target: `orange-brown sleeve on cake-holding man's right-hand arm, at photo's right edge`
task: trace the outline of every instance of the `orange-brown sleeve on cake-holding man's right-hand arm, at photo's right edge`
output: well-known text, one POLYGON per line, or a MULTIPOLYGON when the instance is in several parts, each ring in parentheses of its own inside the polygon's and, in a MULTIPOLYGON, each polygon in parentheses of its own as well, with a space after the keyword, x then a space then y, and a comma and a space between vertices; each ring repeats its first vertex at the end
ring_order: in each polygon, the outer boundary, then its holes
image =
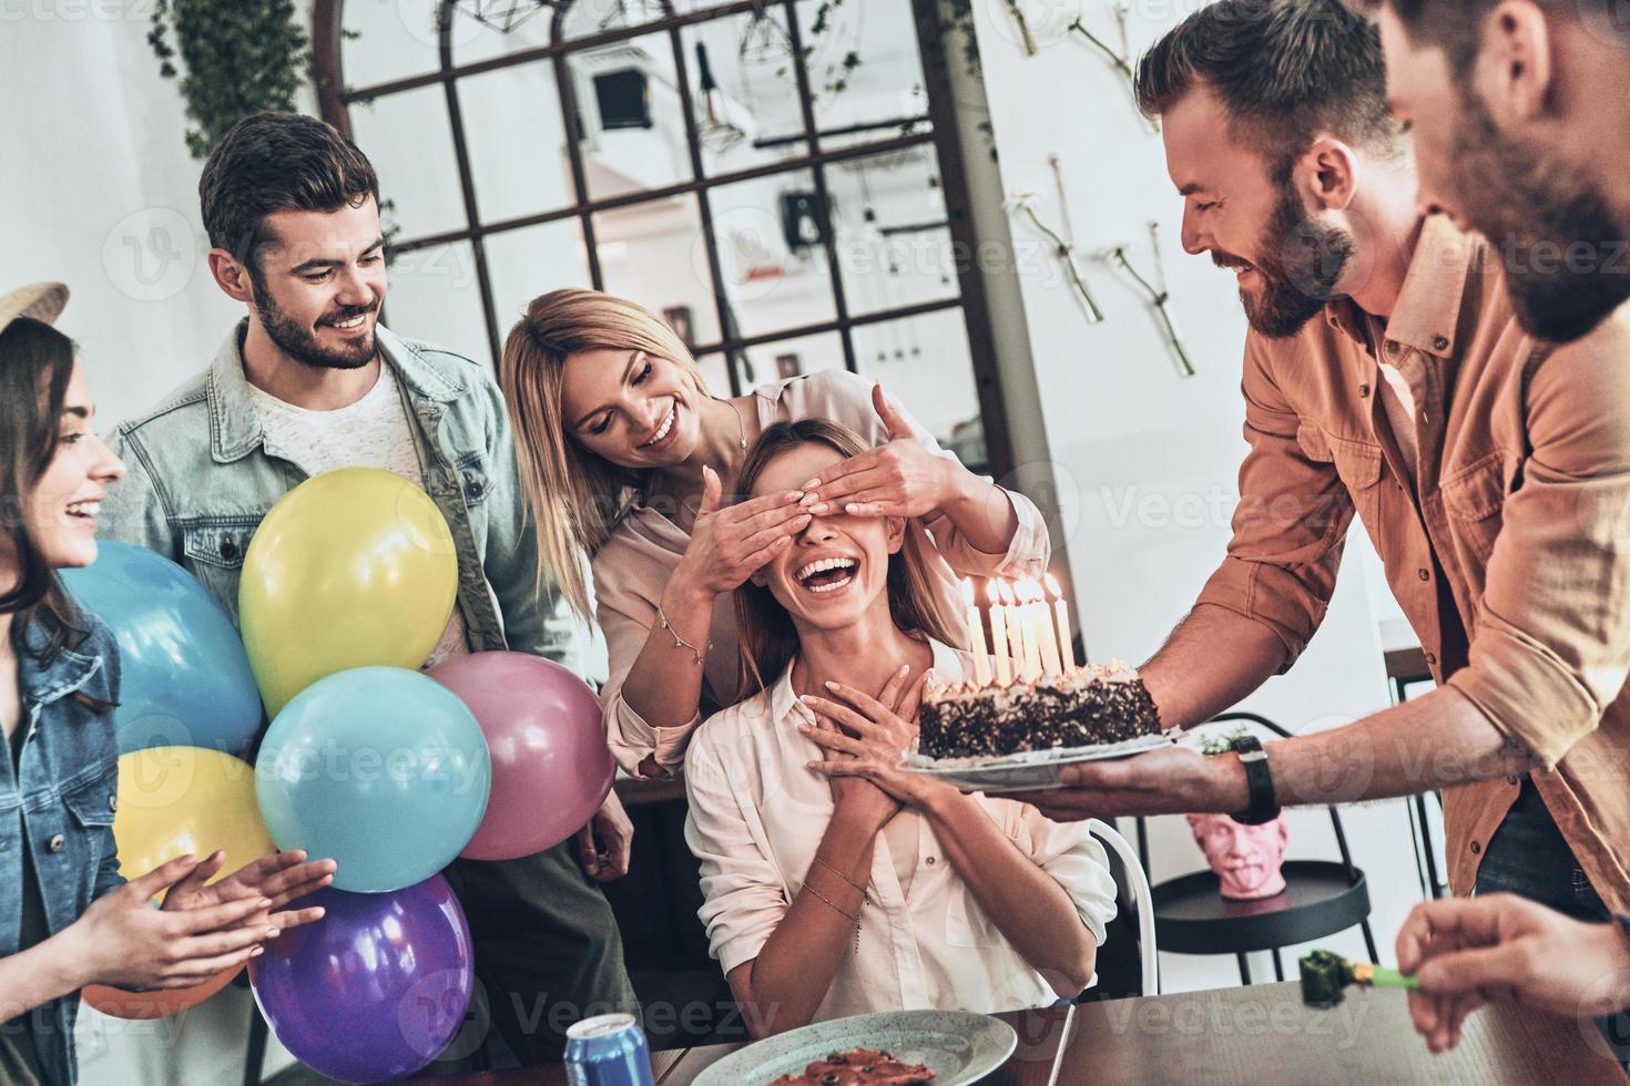
POLYGON ((1449 685, 1548 769, 1630 672, 1630 321, 1540 361, 1527 405, 1532 453, 1449 685))

